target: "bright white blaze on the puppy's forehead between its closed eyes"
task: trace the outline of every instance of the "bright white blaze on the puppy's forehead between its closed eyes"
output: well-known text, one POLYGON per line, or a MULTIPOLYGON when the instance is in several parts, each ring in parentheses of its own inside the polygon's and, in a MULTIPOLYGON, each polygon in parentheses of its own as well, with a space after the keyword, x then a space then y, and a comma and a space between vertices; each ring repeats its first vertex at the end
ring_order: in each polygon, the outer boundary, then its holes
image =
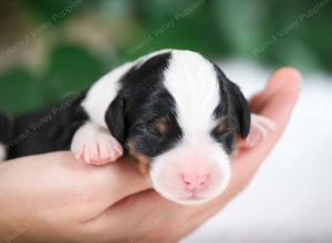
POLYGON ((197 133, 208 135, 216 123, 214 112, 220 98, 214 65, 198 53, 172 51, 164 75, 185 137, 197 133))

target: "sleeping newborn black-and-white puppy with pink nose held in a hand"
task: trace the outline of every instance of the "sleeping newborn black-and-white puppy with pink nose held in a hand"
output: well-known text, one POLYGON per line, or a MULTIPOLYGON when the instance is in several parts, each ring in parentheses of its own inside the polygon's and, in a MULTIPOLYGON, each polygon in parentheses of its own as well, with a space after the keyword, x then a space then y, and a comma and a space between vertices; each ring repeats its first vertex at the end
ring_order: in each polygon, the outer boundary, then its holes
POLYGON ((191 51, 124 64, 63 104, 0 115, 2 159, 71 149, 79 160, 104 165, 125 152, 148 170, 156 191, 181 204, 219 196, 237 138, 259 141, 272 129, 269 119, 250 116, 239 87, 216 64, 191 51))

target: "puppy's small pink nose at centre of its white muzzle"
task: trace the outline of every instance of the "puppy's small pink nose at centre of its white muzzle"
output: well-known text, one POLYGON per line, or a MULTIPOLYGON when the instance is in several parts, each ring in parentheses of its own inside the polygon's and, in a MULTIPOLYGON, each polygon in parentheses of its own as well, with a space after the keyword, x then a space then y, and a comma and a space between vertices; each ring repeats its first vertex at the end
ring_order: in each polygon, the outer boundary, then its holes
POLYGON ((191 173, 183 173, 183 186, 186 190, 190 192, 197 192, 203 190, 207 181, 209 179, 209 173, 199 173, 199 172, 191 172, 191 173))

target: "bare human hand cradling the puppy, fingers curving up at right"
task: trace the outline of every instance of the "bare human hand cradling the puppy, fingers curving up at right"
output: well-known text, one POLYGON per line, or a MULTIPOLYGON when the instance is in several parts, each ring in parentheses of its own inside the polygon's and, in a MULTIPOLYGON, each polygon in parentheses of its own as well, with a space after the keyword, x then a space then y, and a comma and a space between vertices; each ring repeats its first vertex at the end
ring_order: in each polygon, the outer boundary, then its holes
POLYGON ((250 101, 276 131, 232 160, 227 191, 203 205, 169 202, 129 161, 80 163, 71 152, 17 159, 0 166, 0 242, 176 242, 243 190, 279 140, 299 96, 300 74, 281 68, 250 101), (6 210, 3 210, 6 209, 6 210))

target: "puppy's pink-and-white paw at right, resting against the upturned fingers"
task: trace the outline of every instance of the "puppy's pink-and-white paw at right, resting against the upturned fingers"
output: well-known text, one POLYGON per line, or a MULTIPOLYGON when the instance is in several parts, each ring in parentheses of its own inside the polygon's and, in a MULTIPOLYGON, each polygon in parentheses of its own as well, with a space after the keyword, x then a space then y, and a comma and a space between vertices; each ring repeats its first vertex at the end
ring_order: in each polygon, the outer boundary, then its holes
POLYGON ((276 130, 273 120, 268 117, 251 114, 251 127, 245 140, 245 147, 255 147, 266 140, 276 130))

